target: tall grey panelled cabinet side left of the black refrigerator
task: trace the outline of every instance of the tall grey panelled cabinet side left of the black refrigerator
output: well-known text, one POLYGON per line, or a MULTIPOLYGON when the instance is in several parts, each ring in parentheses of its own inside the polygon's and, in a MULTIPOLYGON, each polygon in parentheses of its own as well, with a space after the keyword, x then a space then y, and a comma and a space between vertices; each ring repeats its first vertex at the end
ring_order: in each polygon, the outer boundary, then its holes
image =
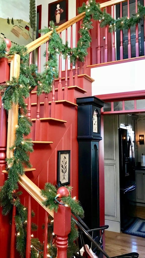
POLYGON ((104 115, 105 224, 120 232, 118 115, 104 115))

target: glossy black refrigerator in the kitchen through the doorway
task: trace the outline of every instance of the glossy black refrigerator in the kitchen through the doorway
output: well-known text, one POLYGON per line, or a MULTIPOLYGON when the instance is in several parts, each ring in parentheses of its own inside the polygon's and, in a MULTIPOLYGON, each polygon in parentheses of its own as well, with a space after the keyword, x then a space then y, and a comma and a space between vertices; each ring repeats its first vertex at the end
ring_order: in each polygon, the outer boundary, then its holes
POLYGON ((119 128, 120 223, 125 230, 134 220, 136 204, 134 132, 119 128))

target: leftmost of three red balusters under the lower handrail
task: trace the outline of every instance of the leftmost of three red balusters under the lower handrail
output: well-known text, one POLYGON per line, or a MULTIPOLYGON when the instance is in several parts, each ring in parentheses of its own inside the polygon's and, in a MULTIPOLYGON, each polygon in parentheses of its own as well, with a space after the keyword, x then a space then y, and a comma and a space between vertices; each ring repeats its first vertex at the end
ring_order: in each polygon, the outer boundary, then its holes
POLYGON ((16 242, 15 215, 16 215, 16 206, 13 205, 10 258, 15 258, 15 242, 16 242))

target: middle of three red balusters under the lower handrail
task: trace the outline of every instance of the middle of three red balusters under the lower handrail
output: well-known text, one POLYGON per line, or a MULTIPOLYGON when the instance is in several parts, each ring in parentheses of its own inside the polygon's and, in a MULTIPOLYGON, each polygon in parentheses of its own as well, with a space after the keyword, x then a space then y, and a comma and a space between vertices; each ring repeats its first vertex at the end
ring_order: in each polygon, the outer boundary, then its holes
POLYGON ((31 257, 31 196, 28 197, 26 258, 31 257))

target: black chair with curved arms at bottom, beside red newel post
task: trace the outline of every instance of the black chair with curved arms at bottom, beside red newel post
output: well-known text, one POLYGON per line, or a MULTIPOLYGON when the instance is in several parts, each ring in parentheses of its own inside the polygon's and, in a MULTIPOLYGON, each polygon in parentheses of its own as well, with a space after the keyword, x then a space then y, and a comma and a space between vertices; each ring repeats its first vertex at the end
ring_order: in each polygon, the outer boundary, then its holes
POLYGON ((85 247, 86 241, 90 242, 90 246, 89 247, 91 247, 93 253, 95 253, 95 255, 98 256, 99 258, 103 257, 103 255, 106 258, 138 258, 139 257, 138 253, 128 253, 128 254, 123 254, 123 255, 118 255, 118 256, 110 257, 103 250, 103 246, 102 246, 104 230, 109 228, 109 226, 108 225, 104 225, 104 226, 96 228, 96 229, 89 229, 87 227, 87 225, 79 217, 77 217, 77 220, 74 217, 72 217, 72 219, 75 221, 75 223, 76 223, 76 225, 78 227, 78 230, 79 230, 79 239, 76 241, 76 244, 78 246, 78 253, 74 254, 75 258, 83 258, 83 257, 88 258, 88 254, 87 254, 86 247, 85 247), (93 233, 95 231, 101 231, 101 236, 100 236, 100 234, 98 234, 98 236, 95 236, 93 238, 93 233), (82 247, 84 247, 84 254, 83 254, 83 256, 80 254, 80 249, 82 247))

